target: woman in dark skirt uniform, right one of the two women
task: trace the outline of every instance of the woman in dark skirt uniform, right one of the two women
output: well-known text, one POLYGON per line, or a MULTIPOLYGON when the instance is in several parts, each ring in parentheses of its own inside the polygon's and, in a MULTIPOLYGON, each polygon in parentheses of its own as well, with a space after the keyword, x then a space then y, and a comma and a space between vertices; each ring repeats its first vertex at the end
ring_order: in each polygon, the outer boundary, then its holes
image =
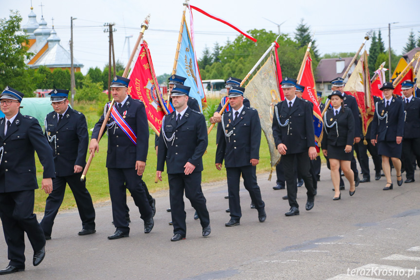
POLYGON ((373 146, 378 144, 378 154, 382 155, 382 169, 386 177, 383 190, 389 190, 393 188, 389 158, 397 171, 397 184, 402 185, 400 158, 404 134, 404 105, 402 99, 397 99, 393 93, 392 83, 384 83, 380 90, 384 98, 375 104, 370 141, 373 146))

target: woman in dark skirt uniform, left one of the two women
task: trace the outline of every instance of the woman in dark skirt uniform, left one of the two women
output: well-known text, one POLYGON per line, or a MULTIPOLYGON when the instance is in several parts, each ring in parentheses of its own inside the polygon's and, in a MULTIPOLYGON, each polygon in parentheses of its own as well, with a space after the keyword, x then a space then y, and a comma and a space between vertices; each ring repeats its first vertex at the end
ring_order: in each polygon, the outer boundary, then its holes
POLYGON ((350 196, 356 191, 354 174, 350 168, 351 157, 354 153, 354 117, 349 109, 344 108, 341 92, 333 91, 328 98, 331 100, 332 109, 324 115, 325 134, 321 147, 324 156, 329 159, 331 180, 335 191, 333 200, 339 200, 341 199, 340 167, 350 183, 350 196))

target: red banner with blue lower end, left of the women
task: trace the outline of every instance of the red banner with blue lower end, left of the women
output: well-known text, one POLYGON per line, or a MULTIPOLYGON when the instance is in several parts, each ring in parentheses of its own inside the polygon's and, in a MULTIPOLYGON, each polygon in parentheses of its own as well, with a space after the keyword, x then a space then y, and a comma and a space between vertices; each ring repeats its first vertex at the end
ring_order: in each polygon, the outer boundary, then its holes
POLYGON ((313 128, 315 130, 315 142, 319 143, 324 123, 321 117, 321 110, 319 110, 318 96, 316 95, 315 79, 313 78, 312 59, 310 58, 310 53, 308 53, 308 58, 306 59, 302 75, 300 76, 298 83, 305 86, 305 91, 303 91, 302 98, 313 103, 313 128))

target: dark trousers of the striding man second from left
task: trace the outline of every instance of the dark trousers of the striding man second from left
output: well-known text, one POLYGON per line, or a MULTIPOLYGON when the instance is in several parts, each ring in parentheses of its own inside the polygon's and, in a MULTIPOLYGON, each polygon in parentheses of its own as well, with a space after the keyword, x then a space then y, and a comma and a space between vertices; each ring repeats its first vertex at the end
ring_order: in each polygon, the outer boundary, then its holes
POLYGON ((53 178, 53 191, 47 197, 44 218, 40 223, 44 233, 51 235, 55 216, 64 199, 66 185, 69 184, 76 201, 83 229, 95 229, 95 208, 91 194, 86 188, 86 181, 80 181, 81 173, 53 178))

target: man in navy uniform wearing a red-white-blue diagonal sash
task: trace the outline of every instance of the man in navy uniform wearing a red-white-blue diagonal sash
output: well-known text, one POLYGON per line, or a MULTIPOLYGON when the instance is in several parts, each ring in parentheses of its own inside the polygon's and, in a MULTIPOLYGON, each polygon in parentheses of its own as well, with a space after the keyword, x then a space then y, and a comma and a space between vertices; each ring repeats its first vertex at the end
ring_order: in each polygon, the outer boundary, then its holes
MULTIPOLYGON (((145 105, 127 94, 130 80, 115 76, 111 82, 111 94, 115 100, 111 116, 107 120, 108 154, 107 168, 115 233, 108 239, 128 237, 130 228, 126 220, 126 189, 139 208, 145 222, 145 233, 154 225, 153 210, 147 201, 142 175, 146 167, 149 129, 145 105)), ((105 105, 104 115, 110 102, 105 105)), ((99 151, 99 131, 105 116, 102 115, 92 131, 89 152, 99 151)), ((104 131, 105 132, 105 131, 104 131)))

